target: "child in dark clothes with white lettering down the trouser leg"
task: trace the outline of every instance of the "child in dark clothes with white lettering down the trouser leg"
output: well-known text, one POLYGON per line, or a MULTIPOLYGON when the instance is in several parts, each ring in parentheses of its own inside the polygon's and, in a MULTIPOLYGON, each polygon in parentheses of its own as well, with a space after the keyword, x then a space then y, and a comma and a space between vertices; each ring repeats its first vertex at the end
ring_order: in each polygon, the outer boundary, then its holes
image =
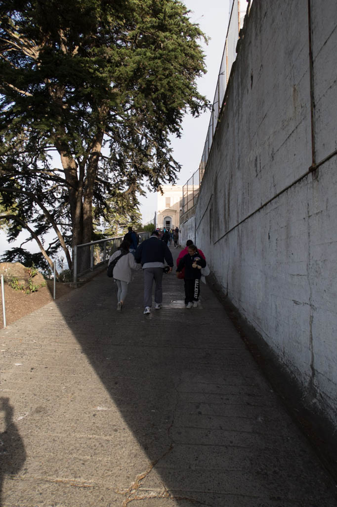
POLYGON ((188 253, 178 264, 177 276, 185 268, 185 304, 186 308, 197 308, 200 295, 201 268, 206 261, 201 257, 195 245, 188 246, 188 253))

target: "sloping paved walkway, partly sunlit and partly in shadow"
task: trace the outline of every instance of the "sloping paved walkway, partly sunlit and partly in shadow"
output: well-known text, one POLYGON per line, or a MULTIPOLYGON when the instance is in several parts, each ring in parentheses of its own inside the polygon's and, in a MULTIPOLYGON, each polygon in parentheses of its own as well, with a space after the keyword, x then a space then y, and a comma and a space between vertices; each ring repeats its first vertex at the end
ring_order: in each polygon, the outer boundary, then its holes
MULTIPOLYGON (((6 483, 7 498, 25 507, 335 505, 210 288, 187 310, 183 282, 164 275, 163 295, 163 308, 143 315, 138 272, 117 312, 102 273, 8 331, 22 357, 15 405, 28 457, 25 484, 6 483)), ((8 427, 19 470, 23 443, 8 427)))

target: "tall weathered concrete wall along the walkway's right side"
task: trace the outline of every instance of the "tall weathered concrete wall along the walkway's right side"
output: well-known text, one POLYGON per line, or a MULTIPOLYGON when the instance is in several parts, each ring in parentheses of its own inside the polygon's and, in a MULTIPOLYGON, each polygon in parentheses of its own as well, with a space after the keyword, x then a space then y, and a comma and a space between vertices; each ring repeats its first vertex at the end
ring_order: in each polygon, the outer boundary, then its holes
POLYGON ((312 2, 312 80, 308 19, 307 0, 252 3, 202 181, 196 243, 337 425, 337 2, 312 2))

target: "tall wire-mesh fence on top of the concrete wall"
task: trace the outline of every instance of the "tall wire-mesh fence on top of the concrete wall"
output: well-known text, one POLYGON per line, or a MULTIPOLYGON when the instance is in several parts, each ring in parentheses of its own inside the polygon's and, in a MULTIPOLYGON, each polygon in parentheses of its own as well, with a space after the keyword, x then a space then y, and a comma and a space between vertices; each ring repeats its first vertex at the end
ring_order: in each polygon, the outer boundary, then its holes
POLYGON ((219 120, 221 108, 226 94, 227 83, 232 65, 236 60, 236 46, 239 40, 239 31, 243 26, 246 12, 249 10, 251 0, 233 0, 229 18, 226 42, 221 59, 216 91, 213 100, 212 113, 210 114, 206 140, 202 152, 199 168, 183 186, 183 213, 191 209, 198 199, 199 188, 205 172, 208 155, 212 148, 213 137, 219 120), (197 182, 197 183, 196 183, 197 182))

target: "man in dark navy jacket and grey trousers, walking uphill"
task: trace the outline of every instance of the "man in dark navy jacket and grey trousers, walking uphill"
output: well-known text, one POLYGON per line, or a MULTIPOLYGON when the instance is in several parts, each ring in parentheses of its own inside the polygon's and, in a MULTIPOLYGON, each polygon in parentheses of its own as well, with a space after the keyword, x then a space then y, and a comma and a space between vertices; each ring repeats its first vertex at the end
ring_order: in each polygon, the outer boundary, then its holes
POLYGON ((143 241, 135 253, 136 262, 142 264, 144 273, 144 314, 150 313, 152 306, 152 285, 154 286, 155 308, 158 310, 162 306, 162 273, 164 260, 170 267, 170 273, 173 268, 173 257, 168 246, 159 239, 158 231, 153 231, 151 237, 143 241))

